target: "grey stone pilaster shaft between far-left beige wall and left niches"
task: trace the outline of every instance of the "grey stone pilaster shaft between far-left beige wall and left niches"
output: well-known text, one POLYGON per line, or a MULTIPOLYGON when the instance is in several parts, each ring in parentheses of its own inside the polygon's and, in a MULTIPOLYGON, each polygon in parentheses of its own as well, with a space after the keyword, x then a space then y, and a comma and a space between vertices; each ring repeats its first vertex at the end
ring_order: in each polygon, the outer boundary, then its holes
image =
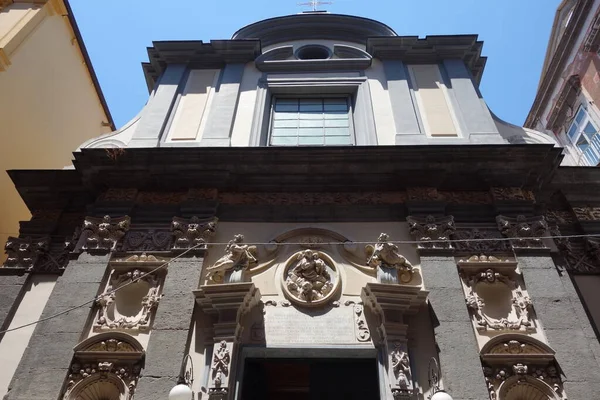
MULTIPOLYGON (((92 300, 105 275, 107 256, 82 254, 58 278, 41 318, 92 300)), ((82 336, 92 304, 39 323, 4 400, 56 400, 82 336)))

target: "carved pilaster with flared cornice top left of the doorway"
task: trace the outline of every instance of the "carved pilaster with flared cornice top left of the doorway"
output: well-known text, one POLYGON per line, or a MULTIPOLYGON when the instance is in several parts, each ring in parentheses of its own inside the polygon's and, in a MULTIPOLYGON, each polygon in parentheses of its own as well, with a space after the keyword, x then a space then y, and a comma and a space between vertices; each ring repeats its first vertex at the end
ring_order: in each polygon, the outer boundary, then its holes
POLYGON ((213 320, 209 399, 232 399, 242 317, 258 304, 260 292, 253 283, 228 283, 201 286, 194 294, 200 307, 213 320))

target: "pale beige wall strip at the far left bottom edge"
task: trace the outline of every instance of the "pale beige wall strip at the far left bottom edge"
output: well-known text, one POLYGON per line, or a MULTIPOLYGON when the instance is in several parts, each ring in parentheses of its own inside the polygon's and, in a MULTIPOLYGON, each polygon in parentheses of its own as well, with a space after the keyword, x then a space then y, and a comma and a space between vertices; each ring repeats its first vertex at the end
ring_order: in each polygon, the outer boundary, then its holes
MULTIPOLYGON (((8 329, 37 321, 48 302, 58 276, 31 275, 27 289, 8 329)), ((29 344, 35 325, 7 332, 0 341, 0 395, 6 394, 8 385, 29 344)))

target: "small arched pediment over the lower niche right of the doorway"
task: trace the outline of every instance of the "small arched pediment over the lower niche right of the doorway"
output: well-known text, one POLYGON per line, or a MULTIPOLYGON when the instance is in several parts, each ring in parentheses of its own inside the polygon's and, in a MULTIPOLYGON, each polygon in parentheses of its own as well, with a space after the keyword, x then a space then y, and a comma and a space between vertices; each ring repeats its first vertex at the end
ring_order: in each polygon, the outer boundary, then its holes
POLYGON ((511 360, 552 361, 554 350, 531 336, 516 333, 498 335, 481 349, 481 358, 490 363, 505 363, 511 360))

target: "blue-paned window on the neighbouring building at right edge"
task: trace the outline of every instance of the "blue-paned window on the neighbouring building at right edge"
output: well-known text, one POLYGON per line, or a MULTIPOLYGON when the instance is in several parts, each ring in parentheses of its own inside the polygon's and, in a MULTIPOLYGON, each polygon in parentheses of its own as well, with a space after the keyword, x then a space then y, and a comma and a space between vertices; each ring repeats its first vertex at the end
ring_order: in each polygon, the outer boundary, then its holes
POLYGON ((583 158, 579 164, 595 166, 600 163, 600 134, 585 108, 580 107, 575 114, 567 136, 583 158))

